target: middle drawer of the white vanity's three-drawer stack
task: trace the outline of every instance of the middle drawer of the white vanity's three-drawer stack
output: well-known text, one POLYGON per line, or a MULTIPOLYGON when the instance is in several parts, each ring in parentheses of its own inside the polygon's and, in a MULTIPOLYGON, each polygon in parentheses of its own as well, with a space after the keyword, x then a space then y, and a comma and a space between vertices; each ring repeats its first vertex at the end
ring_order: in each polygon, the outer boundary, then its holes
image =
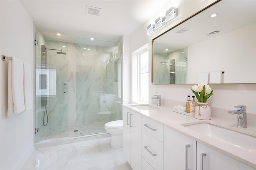
POLYGON ((142 130, 142 157, 155 170, 164 169, 164 143, 142 130))

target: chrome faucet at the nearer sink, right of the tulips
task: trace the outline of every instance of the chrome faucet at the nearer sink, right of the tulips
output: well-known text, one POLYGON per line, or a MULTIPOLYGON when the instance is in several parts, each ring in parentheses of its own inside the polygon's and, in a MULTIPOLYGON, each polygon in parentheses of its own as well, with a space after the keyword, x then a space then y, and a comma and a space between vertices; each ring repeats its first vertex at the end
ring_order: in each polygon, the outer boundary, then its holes
POLYGON ((234 107, 237 107, 237 110, 228 111, 228 113, 232 115, 237 114, 237 126, 246 128, 246 106, 238 105, 234 107))

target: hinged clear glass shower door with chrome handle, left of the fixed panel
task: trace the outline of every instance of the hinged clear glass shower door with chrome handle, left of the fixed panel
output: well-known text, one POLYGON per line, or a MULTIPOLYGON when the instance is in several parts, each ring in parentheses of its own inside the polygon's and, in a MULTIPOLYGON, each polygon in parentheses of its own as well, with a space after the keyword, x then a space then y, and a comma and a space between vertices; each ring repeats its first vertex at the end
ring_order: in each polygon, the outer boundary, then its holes
POLYGON ((68 130, 68 50, 35 32, 36 142, 68 130), (60 52, 66 53, 56 53, 60 52))

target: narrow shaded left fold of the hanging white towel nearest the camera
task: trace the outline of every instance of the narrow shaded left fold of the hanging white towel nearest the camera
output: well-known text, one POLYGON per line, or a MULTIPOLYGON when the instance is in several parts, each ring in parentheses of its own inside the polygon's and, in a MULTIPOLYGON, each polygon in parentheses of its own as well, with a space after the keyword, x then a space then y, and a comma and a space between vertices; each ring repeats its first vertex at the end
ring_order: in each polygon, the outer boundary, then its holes
POLYGON ((7 115, 13 116, 13 100, 12 100, 12 61, 8 63, 8 109, 7 115))

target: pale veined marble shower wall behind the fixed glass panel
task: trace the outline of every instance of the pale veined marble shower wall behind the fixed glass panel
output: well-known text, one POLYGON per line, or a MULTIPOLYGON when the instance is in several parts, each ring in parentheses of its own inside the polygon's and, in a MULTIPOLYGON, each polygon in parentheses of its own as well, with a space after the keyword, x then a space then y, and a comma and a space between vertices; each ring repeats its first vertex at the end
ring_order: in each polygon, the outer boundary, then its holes
MULTIPOLYGON (((115 96, 115 101, 119 100, 118 86, 116 87, 118 80, 115 80, 115 72, 118 74, 118 70, 115 69, 115 65, 118 59, 121 60, 120 55, 106 64, 106 61, 111 60, 111 57, 118 53, 120 47, 114 48, 113 51, 113 47, 76 44, 76 68, 70 70, 72 75, 76 74, 70 80, 76 83, 76 113, 74 115, 76 122, 73 122, 76 125, 103 120, 111 121, 121 115, 121 112, 114 110, 116 107, 111 107, 110 111, 114 114, 108 115, 108 119, 106 117, 102 119, 102 115, 97 114, 101 111, 101 95, 111 94, 110 96, 115 96)), ((109 97, 109 101, 113 101, 113 97, 109 97)), ((115 101, 111 105, 116 105, 115 101)))

